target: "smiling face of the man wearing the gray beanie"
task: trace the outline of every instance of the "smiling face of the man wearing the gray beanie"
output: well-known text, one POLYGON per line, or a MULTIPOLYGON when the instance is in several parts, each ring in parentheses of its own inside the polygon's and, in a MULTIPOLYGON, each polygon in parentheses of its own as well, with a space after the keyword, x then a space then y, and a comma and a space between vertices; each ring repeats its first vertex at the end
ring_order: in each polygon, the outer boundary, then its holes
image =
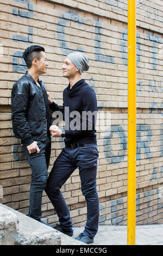
POLYGON ((64 60, 64 64, 62 65, 62 76, 67 78, 73 78, 77 74, 77 72, 77 67, 68 57, 66 57, 64 60))

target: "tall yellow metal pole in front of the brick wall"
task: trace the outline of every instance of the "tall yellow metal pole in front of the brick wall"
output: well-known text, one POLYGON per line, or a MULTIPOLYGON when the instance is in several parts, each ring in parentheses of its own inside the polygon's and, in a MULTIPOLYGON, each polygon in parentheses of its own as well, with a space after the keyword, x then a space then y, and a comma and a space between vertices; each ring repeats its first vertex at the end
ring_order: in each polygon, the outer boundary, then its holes
POLYGON ((128 192, 127 244, 135 245, 136 225, 136 0, 128 0, 128 192))

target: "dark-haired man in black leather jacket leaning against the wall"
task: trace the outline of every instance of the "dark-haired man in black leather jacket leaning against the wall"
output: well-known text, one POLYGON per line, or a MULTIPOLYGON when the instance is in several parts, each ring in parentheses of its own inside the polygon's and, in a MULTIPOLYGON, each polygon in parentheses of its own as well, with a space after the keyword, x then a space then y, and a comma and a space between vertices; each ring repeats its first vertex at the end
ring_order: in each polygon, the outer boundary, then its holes
POLYGON ((39 80, 47 70, 45 49, 38 45, 28 47, 23 58, 28 71, 12 88, 12 127, 16 138, 22 140, 22 148, 32 169, 29 196, 29 216, 41 221, 42 192, 46 187, 51 155, 53 118, 49 112, 45 84, 39 80))

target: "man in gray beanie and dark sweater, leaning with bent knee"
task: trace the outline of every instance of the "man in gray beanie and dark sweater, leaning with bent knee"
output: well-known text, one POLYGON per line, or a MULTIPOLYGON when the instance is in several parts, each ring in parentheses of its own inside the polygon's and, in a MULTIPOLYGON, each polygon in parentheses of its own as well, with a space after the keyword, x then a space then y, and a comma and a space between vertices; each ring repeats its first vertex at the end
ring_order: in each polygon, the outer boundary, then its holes
POLYGON ((72 52, 65 58, 62 76, 68 78, 69 85, 63 92, 64 105, 62 108, 54 103, 48 95, 51 109, 60 111, 65 120, 65 131, 61 131, 58 126, 51 126, 49 130, 53 137, 64 138, 65 148, 54 162, 45 191, 59 217, 60 225, 55 229, 72 236, 70 212, 60 188, 74 170, 79 168, 82 193, 87 202, 87 222, 83 233, 79 234, 76 239, 85 243, 93 243, 93 238, 98 230, 99 217, 96 189, 98 148, 96 117, 94 116, 95 113, 97 114, 97 100, 95 91, 81 77, 82 72, 89 69, 88 62, 88 58, 82 52, 72 52), (69 113, 67 113, 67 108, 69 113), (75 118, 72 114, 74 112, 75 118), (89 117, 85 115, 88 112, 89 117), (90 113, 92 113, 91 118, 90 113))

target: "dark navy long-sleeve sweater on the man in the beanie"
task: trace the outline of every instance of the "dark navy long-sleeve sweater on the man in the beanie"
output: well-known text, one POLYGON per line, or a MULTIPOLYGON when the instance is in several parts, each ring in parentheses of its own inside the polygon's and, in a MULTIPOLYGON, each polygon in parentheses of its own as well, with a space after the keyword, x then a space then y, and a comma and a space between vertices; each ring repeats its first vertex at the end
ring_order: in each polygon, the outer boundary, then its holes
POLYGON ((54 103, 54 101, 49 106, 53 112, 61 111, 63 114, 66 135, 65 143, 97 143, 97 99, 95 91, 82 79, 74 84, 72 88, 70 88, 69 84, 64 89, 63 101, 62 108, 54 103))

